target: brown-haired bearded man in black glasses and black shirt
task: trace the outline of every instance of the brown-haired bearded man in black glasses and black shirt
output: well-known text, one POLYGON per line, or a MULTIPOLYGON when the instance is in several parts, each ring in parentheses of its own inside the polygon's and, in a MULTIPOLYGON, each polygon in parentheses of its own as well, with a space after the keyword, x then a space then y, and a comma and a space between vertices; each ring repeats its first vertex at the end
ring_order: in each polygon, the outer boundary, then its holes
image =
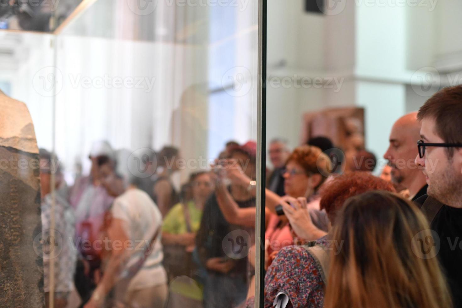
MULTIPOLYGON (((454 307, 462 307, 462 86, 444 88, 420 108, 419 154, 428 184, 416 200, 438 237, 432 249, 443 266, 454 307)), ((427 243, 428 244, 428 243, 427 243)), ((423 257, 432 249, 422 247, 423 257)))

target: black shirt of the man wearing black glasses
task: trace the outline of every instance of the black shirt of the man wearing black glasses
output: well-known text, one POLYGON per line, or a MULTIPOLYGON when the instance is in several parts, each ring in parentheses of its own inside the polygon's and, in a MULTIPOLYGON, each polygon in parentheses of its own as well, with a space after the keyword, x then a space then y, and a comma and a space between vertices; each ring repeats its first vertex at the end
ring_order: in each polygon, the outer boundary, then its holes
MULTIPOLYGON (((417 200, 423 204, 425 197, 417 200)), ((439 235, 438 259, 453 297, 454 307, 462 308, 462 209, 443 205, 430 226, 439 235)))

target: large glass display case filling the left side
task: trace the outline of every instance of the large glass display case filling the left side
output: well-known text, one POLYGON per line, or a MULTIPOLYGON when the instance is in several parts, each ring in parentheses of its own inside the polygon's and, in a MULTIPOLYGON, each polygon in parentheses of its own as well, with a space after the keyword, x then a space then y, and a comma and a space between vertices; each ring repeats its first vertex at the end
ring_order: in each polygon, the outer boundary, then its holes
POLYGON ((3 306, 42 307, 43 292, 48 307, 245 302, 259 216, 241 225, 232 211, 260 206, 261 4, 74 2, 27 29, 43 32, 13 30, 26 28, 11 15, 0 30, 2 99, 31 120, 16 136, 8 122, 0 146, 38 160, 27 176, 42 183, 14 213, 24 238, 0 246, 30 252, 9 274, 34 296, 3 306))

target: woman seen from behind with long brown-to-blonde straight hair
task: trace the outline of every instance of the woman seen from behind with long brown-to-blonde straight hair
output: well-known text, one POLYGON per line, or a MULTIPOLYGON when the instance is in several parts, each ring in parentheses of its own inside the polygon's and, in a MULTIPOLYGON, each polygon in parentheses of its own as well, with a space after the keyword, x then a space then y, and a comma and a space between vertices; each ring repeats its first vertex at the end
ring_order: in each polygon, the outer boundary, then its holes
POLYGON ((396 194, 348 199, 333 230, 339 244, 332 245, 324 307, 452 307, 429 229, 419 209, 396 194))

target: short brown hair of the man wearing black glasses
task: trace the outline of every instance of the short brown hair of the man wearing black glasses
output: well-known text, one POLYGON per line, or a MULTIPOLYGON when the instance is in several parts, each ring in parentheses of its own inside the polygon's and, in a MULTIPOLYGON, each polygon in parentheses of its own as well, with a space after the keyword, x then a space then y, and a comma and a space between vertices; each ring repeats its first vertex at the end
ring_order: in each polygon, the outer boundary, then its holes
MULTIPOLYGON (((462 143, 462 85, 446 87, 433 94, 420 107, 419 121, 424 118, 435 120, 436 133, 444 142, 462 143)), ((454 148, 448 148, 452 156, 454 148)))

